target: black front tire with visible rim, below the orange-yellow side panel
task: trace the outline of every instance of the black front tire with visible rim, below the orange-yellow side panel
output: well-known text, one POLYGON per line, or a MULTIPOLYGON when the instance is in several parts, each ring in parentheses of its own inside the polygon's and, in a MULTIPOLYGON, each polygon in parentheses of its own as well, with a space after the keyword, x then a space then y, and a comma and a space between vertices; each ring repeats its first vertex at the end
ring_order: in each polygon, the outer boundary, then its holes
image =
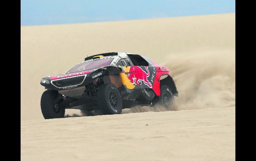
POLYGON ((115 85, 108 83, 99 87, 98 106, 104 115, 121 114, 122 98, 115 85))

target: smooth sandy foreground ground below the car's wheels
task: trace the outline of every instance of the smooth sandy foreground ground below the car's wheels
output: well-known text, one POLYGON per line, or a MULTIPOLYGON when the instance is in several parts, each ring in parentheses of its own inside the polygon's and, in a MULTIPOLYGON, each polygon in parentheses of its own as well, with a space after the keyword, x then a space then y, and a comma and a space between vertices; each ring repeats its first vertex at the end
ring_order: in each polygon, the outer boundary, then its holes
POLYGON ((235 107, 21 122, 21 160, 235 160, 235 107))

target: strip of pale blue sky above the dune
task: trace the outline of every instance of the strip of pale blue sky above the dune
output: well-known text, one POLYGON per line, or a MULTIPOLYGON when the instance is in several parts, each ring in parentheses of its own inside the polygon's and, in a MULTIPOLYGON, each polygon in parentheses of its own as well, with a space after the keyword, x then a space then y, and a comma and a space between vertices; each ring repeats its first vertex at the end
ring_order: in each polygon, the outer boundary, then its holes
POLYGON ((235 0, 21 0, 21 26, 234 12, 235 0))

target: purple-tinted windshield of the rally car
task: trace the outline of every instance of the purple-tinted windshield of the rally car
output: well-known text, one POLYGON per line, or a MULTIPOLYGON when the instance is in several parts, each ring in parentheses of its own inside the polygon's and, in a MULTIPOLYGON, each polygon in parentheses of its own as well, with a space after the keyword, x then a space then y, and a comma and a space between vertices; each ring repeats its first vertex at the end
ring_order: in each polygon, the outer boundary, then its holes
POLYGON ((70 70, 68 70, 65 74, 108 66, 112 62, 112 60, 113 58, 108 58, 108 59, 98 59, 98 60, 92 60, 92 61, 80 63, 75 65, 70 70))

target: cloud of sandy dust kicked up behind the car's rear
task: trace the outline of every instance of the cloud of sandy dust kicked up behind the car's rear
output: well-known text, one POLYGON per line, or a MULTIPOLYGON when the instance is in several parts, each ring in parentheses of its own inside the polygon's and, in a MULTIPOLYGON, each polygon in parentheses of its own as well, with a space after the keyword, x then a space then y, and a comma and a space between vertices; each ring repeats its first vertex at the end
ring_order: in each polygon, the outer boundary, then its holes
MULTIPOLYGON (((194 49, 169 54, 165 63, 174 78, 179 97, 175 109, 192 110, 235 106, 235 50, 194 49)), ((136 106, 123 113, 167 111, 156 105, 136 106)))

